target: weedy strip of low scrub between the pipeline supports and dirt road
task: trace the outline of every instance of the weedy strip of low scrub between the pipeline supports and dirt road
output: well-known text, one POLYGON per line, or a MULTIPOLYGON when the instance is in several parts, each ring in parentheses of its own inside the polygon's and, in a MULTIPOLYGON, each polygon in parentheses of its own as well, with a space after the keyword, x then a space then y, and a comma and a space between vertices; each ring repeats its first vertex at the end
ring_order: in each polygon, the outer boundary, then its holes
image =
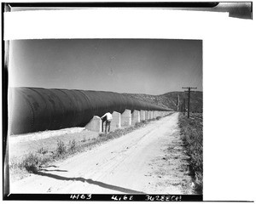
POLYGON ((10 161, 10 178, 15 181, 20 178, 24 178, 28 173, 37 173, 42 167, 49 165, 50 162, 66 159, 69 156, 73 156, 79 152, 85 150, 90 150, 96 144, 101 144, 110 139, 116 139, 131 133, 132 131, 144 127, 148 122, 153 120, 159 120, 160 117, 156 119, 151 119, 148 121, 137 122, 134 126, 127 127, 124 129, 116 129, 110 133, 100 133, 99 137, 93 139, 86 139, 84 136, 80 140, 69 140, 68 143, 64 143, 61 139, 55 144, 54 150, 48 150, 47 147, 40 147, 38 150, 29 152, 25 156, 22 156, 18 160, 10 161))

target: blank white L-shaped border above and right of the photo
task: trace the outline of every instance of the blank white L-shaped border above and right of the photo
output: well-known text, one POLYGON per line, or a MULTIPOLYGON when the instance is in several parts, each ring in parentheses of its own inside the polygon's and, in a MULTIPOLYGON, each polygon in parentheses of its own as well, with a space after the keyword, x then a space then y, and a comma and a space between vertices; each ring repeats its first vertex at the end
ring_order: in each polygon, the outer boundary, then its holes
POLYGON ((202 39, 204 200, 253 201, 255 25, 227 16, 134 8, 11 12, 4 38, 202 39))

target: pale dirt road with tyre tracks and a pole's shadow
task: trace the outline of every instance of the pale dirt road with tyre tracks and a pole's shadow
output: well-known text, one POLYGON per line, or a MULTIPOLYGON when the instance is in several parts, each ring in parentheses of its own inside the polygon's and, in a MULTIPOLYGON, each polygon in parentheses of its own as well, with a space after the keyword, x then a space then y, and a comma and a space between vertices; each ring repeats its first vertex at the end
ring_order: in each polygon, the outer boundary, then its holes
POLYGON ((11 193, 192 194, 178 113, 44 167, 11 193))

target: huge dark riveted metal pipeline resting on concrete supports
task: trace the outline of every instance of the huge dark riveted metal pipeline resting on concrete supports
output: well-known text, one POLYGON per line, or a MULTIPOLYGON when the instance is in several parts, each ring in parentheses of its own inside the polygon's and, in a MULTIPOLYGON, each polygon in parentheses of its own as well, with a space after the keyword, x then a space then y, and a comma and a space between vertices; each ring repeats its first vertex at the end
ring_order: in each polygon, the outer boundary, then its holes
POLYGON ((106 112, 170 111, 125 94, 46 88, 9 89, 10 133, 84 127, 106 112))

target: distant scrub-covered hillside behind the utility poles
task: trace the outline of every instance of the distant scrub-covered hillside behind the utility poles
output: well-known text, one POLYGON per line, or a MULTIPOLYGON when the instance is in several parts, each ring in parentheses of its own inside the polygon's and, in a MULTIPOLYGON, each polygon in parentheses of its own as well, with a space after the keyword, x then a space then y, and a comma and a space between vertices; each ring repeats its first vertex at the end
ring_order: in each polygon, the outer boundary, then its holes
MULTIPOLYGON (((202 92, 190 93, 190 111, 202 112, 202 92)), ((184 92, 169 92, 162 95, 148 95, 148 94, 125 94, 135 99, 141 99, 155 105, 160 105, 164 108, 170 108, 177 111, 177 97, 179 96, 179 111, 183 111, 183 99, 186 100, 186 108, 188 105, 188 93, 184 92)))

